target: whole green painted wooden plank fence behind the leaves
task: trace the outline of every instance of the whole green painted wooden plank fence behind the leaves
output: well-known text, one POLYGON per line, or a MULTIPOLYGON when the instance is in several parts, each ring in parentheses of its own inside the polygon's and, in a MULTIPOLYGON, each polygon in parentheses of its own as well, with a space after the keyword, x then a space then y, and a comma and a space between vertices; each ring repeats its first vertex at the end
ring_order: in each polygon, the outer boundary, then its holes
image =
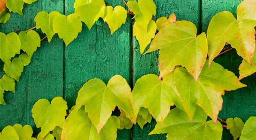
MULTIPOLYGON (((24 16, 12 13, 7 24, 0 25, 0 32, 9 33, 27 30, 35 26, 34 17, 39 11, 58 11, 66 15, 74 13, 75 0, 39 0, 26 5, 24 16)), ((193 22, 198 32, 206 32, 211 17, 220 11, 236 13, 236 7, 242 0, 154 0, 157 5, 156 17, 175 13, 178 20, 193 22)), ((122 5, 121 0, 106 0, 112 6, 122 5)), ((82 33, 68 47, 63 41, 54 37, 50 44, 43 41, 33 55, 29 66, 24 68, 20 82, 16 84, 16 93, 5 93, 6 106, 0 105, 0 130, 6 125, 21 123, 35 124, 31 114, 33 104, 41 98, 51 100, 64 97, 69 108, 75 103, 78 90, 91 78, 100 78, 107 82, 113 75, 122 75, 131 86, 142 75, 158 73, 158 52, 141 56, 139 44, 132 37, 132 22, 126 24, 111 35, 108 25, 102 20, 89 31, 83 24, 82 33)), ((39 31, 39 30, 38 30, 39 31)), ((41 37, 44 35, 41 33, 41 37)), ((235 50, 215 59, 226 69, 239 74, 241 58, 235 50)), ((0 75, 3 74, 0 62, 0 75)), ((246 121, 249 116, 256 116, 256 74, 243 79, 247 84, 223 96, 224 105, 219 116, 241 117, 246 121)), ((155 122, 145 125, 141 130, 137 125, 131 130, 118 131, 118 140, 165 140, 165 135, 148 133, 155 122)), ((230 133, 224 130, 223 140, 232 140, 230 133)))

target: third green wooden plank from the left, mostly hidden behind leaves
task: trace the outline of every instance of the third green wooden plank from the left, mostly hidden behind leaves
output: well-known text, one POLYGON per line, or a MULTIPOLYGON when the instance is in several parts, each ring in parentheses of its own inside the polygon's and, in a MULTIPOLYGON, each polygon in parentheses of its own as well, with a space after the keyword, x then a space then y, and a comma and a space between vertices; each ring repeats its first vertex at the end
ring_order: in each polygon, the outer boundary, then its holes
MULTIPOLYGON (((177 20, 188 20, 197 27, 200 25, 200 0, 154 0, 157 6, 156 18, 169 17, 174 13, 177 20)), ((134 39, 133 43, 133 84, 141 76, 149 73, 158 74, 158 51, 141 56, 139 54, 138 41, 134 39)), ((154 129, 156 122, 144 126, 140 129, 138 125, 133 128, 133 140, 165 140, 165 134, 148 136, 148 133, 154 129)))

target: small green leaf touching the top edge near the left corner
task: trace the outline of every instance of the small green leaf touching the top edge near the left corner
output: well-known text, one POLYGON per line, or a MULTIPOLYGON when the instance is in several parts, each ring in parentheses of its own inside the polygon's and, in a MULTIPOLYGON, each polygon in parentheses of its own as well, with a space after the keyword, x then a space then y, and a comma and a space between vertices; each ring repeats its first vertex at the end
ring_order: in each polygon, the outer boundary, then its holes
POLYGON ((6 6, 9 9, 10 12, 18 13, 20 15, 23 15, 22 9, 23 9, 24 2, 23 0, 6 0, 6 6))

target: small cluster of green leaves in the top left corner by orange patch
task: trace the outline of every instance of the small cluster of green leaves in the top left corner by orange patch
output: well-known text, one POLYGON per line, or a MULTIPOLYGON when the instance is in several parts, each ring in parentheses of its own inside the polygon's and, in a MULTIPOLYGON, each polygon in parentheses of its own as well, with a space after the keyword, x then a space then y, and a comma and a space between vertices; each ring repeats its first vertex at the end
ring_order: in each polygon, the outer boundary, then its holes
POLYGON ((5 24, 11 15, 8 11, 23 15, 24 4, 32 4, 37 0, 0 0, 0 23, 5 24))

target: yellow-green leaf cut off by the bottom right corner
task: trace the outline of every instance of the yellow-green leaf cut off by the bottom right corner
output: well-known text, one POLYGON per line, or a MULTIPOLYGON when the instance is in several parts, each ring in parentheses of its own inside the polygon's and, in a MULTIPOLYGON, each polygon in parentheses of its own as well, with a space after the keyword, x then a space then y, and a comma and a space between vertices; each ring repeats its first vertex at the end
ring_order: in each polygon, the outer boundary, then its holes
POLYGON ((242 136, 239 140, 255 140, 256 134, 256 117, 250 117, 245 122, 245 127, 242 131, 242 136))

